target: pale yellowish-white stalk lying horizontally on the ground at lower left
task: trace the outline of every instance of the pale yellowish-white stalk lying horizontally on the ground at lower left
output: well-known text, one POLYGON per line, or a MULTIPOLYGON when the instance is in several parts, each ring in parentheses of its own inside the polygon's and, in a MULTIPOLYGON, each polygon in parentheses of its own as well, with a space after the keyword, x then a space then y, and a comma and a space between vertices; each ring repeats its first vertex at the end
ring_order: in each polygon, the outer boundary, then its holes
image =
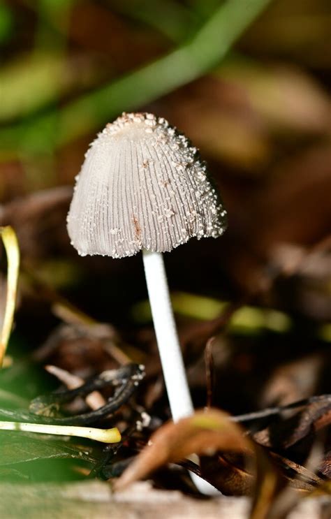
POLYGON ((0 430, 39 432, 42 434, 61 434, 63 436, 78 436, 81 438, 103 441, 105 444, 115 444, 121 441, 117 427, 112 429, 96 429, 95 427, 76 427, 73 425, 47 425, 45 423, 1 422, 0 430))

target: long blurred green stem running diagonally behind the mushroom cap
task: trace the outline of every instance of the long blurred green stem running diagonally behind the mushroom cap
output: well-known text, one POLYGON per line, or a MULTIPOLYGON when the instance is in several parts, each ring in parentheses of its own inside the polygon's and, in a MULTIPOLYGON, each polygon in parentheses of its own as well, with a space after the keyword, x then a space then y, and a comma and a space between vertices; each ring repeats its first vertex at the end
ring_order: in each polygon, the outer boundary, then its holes
POLYGON ((271 0, 222 3, 190 41, 138 71, 68 103, 60 112, 30 119, 0 132, 5 151, 25 153, 60 147, 95 131, 122 110, 135 110, 195 80, 219 64, 231 45, 271 0), (31 133, 30 133, 31 132, 31 133), (30 136, 32 135, 32 138, 30 136))

